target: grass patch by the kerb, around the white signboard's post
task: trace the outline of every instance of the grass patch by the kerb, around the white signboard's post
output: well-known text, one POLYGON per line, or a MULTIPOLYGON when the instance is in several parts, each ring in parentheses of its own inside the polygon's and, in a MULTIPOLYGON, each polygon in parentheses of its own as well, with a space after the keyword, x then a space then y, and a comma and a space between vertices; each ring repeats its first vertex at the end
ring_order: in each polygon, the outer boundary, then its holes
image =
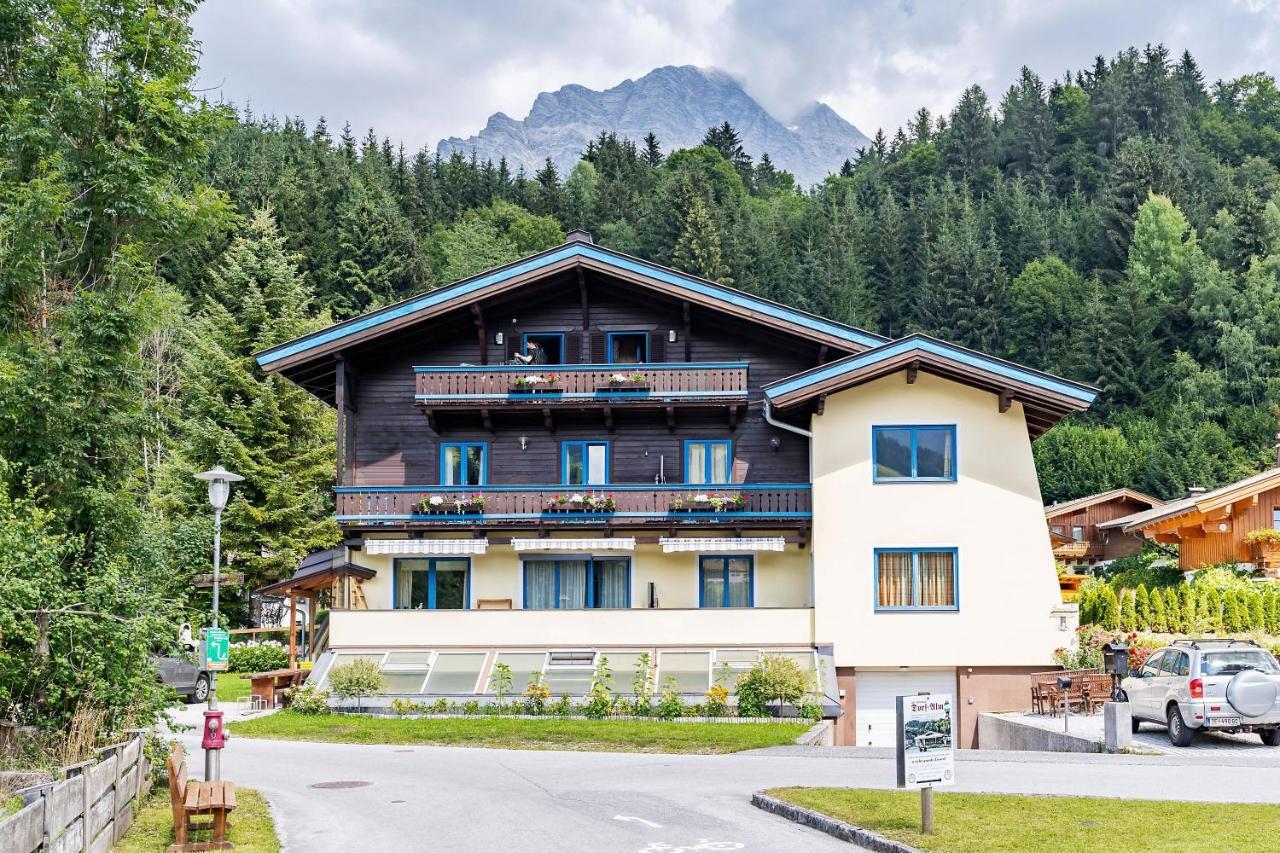
POLYGON ((947 853, 1270 853, 1280 834, 1280 806, 937 793, 936 834, 922 835, 916 792, 776 788, 765 793, 922 850, 947 853))

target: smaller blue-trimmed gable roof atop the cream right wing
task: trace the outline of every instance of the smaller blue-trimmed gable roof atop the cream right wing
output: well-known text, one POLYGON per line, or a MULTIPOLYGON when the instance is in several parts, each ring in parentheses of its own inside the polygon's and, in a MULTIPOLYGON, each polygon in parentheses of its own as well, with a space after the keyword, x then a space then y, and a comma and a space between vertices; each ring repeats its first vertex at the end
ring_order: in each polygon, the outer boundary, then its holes
POLYGON ((786 409, 817 397, 845 391, 899 370, 918 369, 983 388, 1007 400, 1018 400, 1033 435, 1089 407, 1098 389, 1062 379, 1012 361, 947 343, 927 334, 909 334, 897 341, 846 356, 780 379, 764 387, 771 403, 786 409))

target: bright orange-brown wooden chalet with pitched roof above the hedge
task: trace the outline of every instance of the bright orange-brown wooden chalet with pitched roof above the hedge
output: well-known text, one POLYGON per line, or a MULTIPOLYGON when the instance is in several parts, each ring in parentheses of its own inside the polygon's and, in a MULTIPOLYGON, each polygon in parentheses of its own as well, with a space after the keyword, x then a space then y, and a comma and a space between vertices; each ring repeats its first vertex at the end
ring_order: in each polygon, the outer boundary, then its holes
POLYGON ((1111 523, 1125 533, 1178 546, 1184 571, 1220 564, 1252 565, 1280 578, 1280 467, 1219 489, 1111 523))

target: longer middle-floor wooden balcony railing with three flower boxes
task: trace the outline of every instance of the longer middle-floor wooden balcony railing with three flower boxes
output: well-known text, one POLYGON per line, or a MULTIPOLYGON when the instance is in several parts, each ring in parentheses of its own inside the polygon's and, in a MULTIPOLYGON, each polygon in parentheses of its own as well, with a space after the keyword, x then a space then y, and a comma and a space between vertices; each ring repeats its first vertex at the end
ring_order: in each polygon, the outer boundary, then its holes
POLYGON ((347 485, 335 489, 342 524, 572 525, 736 524, 806 520, 808 484, 481 485, 475 488, 347 485), (573 501, 575 496, 582 500, 573 501), (433 501, 433 498, 439 498, 433 501), (480 498, 481 501, 477 501, 480 498), (590 498, 590 500, 589 500, 590 498), (612 507, 602 506, 612 500, 612 507), (700 500, 701 498, 701 500, 700 500), (594 506, 593 506, 594 500, 594 506), (458 506, 457 502, 462 502, 458 506))

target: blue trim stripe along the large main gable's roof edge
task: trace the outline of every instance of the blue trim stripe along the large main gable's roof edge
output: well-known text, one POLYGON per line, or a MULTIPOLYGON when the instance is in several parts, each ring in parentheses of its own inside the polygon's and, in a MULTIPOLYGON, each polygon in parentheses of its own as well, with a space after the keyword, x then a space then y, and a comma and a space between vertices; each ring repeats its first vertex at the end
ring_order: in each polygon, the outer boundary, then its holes
POLYGON ((762 314, 768 314, 769 316, 788 320, 791 323, 797 323, 800 325, 806 325, 814 329, 820 329, 827 334, 832 334, 849 341, 850 343, 858 343, 860 346, 874 347, 884 342, 884 338, 874 336, 869 332, 863 332, 852 327, 846 327, 840 323, 833 323, 832 320, 824 320, 813 314, 805 314, 803 311, 796 311, 795 309, 788 309, 782 305, 769 302, 731 288, 721 287, 718 284, 712 284, 709 282, 703 282, 696 278, 682 275, 672 270, 655 266, 653 264, 628 257, 626 255, 616 255, 613 252, 603 251, 596 246, 586 243, 571 243, 561 248, 556 248, 541 255, 535 255, 525 261, 512 264, 492 273, 479 275, 472 279, 465 279, 457 284, 449 284, 428 293, 422 293, 419 297, 401 302, 399 305, 393 305, 381 311, 375 311, 367 314, 362 318, 356 318, 346 323, 330 327, 323 332, 317 332, 314 336, 300 338, 289 343, 282 345, 274 350, 262 352, 255 357, 259 366, 268 366, 280 359, 285 359, 300 352, 306 352, 315 347, 330 343, 333 341, 339 341, 344 337, 355 334, 357 332, 364 332, 365 329, 371 329, 379 327, 390 320, 399 319, 407 314, 413 314, 415 311, 421 311, 422 309, 429 309, 442 302, 454 300, 460 296, 467 296, 479 289, 489 287, 490 284, 497 284, 508 278, 516 275, 522 275, 524 273, 531 273, 545 266, 550 266, 563 260, 571 257, 590 257, 593 260, 600 261, 609 266, 616 266, 618 269, 625 269, 632 273, 639 273, 648 278, 653 278, 668 284, 675 284, 676 287, 682 287, 695 293, 703 293, 705 296, 712 296, 722 302, 728 302, 739 307, 745 307, 751 311, 759 311, 762 314))

